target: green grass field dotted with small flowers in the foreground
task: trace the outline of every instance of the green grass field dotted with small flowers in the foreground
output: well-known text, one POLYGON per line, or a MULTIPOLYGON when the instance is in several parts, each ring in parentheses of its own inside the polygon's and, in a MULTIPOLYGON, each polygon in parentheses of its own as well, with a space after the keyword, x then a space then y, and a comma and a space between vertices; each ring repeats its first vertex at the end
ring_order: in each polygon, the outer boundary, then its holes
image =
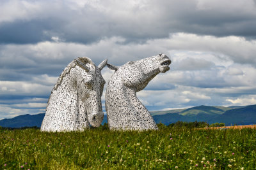
POLYGON ((50 133, 2 129, 0 134, 0 169, 256 167, 256 129, 165 127, 160 131, 112 132, 98 128, 50 133))

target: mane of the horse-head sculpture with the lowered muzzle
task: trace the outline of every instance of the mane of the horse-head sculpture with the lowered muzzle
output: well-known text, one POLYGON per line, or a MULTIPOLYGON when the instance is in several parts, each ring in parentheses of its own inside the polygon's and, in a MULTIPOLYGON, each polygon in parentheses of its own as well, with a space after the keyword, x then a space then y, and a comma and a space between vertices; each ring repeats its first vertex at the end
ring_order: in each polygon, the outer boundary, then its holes
POLYGON ((86 69, 86 64, 90 63, 93 66, 95 66, 95 64, 92 62, 91 59, 89 59, 88 57, 78 57, 78 59, 74 59, 72 62, 70 62, 68 64, 67 67, 65 67, 65 69, 62 71, 62 73, 60 74, 57 83, 54 85, 54 88, 52 90, 56 90, 58 88, 59 85, 61 85, 63 78, 70 72, 70 70, 76 66, 81 67, 82 69, 84 69, 85 71, 88 71, 88 69, 86 69))

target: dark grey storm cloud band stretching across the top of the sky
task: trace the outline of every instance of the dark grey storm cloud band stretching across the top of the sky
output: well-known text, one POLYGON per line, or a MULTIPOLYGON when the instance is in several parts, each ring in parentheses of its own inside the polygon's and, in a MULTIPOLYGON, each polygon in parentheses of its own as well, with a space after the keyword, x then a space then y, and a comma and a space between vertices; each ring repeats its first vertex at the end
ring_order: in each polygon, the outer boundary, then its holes
POLYGON ((113 36, 140 43, 168 38, 175 32, 246 38, 255 38, 256 34, 255 1, 236 0, 232 4, 184 0, 1 1, 0 4, 1 43, 37 43, 54 36, 62 41, 87 44, 113 36), (12 3, 15 5, 11 6, 12 3))

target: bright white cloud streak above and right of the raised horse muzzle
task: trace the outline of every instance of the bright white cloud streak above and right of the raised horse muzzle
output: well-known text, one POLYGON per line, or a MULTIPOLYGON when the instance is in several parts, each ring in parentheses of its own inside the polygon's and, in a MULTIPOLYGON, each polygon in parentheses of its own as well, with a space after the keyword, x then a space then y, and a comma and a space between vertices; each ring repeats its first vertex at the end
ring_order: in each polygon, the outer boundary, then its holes
MULTIPOLYGON (((215 53, 219 57, 228 58, 240 64, 253 64, 256 66, 254 53, 256 41, 246 40, 243 37, 227 36, 216 38, 214 36, 198 36, 196 34, 177 33, 168 39, 155 39, 152 43, 163 43, 165 48, 175 50, 193 50, 215 53)), ((226 59, 227 60, 227 59, 226 59)))

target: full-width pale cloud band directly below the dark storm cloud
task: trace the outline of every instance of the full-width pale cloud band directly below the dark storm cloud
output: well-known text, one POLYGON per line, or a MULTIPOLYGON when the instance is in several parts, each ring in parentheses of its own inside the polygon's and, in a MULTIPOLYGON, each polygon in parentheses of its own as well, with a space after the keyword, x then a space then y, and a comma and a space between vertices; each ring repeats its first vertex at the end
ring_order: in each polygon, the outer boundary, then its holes
POLYGON ((35 45, 1 45, 1 80, 29 78, 24 74, 58 76, 71 60, 81 56, 92 58, 96 64, 108 58, 111 64, 122 65, 128 60, 163 52, 170 55, 174 69, 211 69, 214 64, 227 67, 234 62, 256 66, 256 41, 241 37, 177 33, 170 38, 151 39, 142 44, 126 44, 124 41, 124 38, 113 37, 91 45, 50 41, 35 45))

